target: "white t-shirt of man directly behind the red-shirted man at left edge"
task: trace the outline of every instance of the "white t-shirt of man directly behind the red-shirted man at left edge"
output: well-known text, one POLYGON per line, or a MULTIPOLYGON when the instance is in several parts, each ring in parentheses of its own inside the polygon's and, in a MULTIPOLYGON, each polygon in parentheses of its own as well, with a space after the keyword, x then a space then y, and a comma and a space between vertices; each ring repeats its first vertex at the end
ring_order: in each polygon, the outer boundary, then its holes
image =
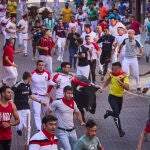
POLYGON ((8 31, 13 32, 13 33, 7 33, 6 32, 6 39, 17 38, 17 34, 16 34, 17 28, 16 28, 15 23, 13 23, 11 21, 8 22, 7 25, 6 25, 6 28, 7 28, 8 31))

